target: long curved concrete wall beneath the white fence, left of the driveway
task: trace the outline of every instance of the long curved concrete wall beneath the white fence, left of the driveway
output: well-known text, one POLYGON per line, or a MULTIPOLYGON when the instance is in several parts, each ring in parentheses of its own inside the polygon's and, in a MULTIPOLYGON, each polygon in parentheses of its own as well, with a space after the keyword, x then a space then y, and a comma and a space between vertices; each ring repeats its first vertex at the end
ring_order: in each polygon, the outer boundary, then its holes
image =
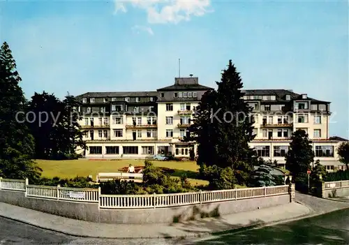
POLYGON ((98 203, 27 198, 23 191, 0 190, 0 202, 83 221, 145 224, 177 223, 193 218, 217 217, 284 205, 290 202, 290 195, 158 209, 98 209, 98 203))

